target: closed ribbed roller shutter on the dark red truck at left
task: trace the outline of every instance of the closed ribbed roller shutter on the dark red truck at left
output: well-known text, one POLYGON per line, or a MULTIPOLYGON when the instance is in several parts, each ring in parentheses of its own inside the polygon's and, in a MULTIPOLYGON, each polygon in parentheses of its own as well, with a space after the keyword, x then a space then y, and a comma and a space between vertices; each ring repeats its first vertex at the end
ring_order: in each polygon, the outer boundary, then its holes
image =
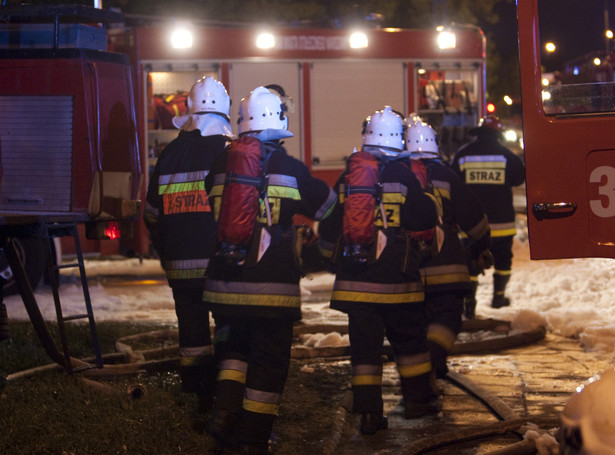
POLYGON ((0 210, 71 208, 72 96, 0 96, 0 210))

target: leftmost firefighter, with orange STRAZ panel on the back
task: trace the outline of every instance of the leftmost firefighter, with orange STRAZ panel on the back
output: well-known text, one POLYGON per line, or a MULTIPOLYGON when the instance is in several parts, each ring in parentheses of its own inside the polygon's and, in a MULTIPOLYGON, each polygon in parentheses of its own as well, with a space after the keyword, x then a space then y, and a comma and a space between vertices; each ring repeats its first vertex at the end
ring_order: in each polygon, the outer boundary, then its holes
POLYGON ((196 393, 206 410, 216 369, 202 293, 215 247, 215 221, 204 181, 232 137, 230 99, 224 85, 208 76, 192 86, 187 107, 187 115, 173 119, 178 136, 156 162, 144 220, 173 291, 181 388, 196 393))

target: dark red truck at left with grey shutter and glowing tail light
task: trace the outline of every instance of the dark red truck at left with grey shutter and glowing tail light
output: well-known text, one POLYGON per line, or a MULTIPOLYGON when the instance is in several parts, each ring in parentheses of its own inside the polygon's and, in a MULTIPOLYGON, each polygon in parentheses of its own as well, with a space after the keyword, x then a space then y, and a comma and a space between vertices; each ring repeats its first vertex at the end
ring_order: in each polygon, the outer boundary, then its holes
POLYGON ((133 69, 107 51, 118 20, 80 5, 2 8, 0 248, 20 256, 33 287, 47 240, 67 237, 50 229, 107 239, 139 217, 133 69))

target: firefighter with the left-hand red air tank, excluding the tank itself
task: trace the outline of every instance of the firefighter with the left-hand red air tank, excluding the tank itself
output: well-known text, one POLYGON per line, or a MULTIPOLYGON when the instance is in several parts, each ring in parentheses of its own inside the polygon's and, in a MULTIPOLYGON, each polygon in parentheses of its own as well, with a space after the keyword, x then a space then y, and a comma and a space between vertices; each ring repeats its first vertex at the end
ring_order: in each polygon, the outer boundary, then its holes
MULTIPOLYGON (((288 375, 293 324, 301 319, 301 270, 293 216, 322 219, 336 198, 325 182, 312 177, 307 166, 290 157, 283 146, 282 140, 293 134, 288 130, 281 87, 260 86, 241 100, 238 132, 236 142, 257 138, 266 157, 268 183, 255 229, 261 234, 254 240, 266 251, 248 265, 229 263, 219 250, 210 266, 203 298, 211 304, 216 323, 219 372, 214 412, 206 431, 223 449, 264 454, 269 453, 268 441, 288 375)), ((216 217, 227 191, 227 157, 228 153, 218 160, 206 179, 215 198, 216 217)))

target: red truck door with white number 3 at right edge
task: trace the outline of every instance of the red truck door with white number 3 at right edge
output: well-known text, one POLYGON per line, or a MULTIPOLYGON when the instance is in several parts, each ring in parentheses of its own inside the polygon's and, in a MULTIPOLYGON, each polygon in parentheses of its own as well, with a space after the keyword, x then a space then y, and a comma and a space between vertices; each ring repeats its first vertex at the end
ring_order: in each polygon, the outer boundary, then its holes
MULTIPOLYGON (((615 80, 612 66, 604 65, 612 59, 610 40, 601 60, 584 59, 585 66, 595 65, 590 72, 572 61, 569 74, 545 85, 542 71, 549 58, 542 52, 544 15, 557 14, 564 27, 590 3, 576 2, 576 13, 566 10, 569 18, 546 1, 517 2, 532 259, 615 257, 615 80)), ((594 27, 586 26, 588 40, 602 29, 602 16, 597 19, 594 27)))

